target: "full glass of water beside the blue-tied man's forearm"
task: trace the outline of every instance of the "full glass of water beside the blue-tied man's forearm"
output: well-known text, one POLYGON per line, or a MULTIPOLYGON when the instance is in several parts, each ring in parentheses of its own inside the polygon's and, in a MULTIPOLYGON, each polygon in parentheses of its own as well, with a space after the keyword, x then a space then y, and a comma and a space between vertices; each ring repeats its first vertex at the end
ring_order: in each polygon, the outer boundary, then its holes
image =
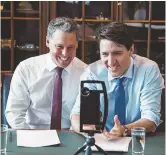
POLYGON ((145 130, 143 127, 134 127, 131 129, 133 155, 144 155, 145 130))

